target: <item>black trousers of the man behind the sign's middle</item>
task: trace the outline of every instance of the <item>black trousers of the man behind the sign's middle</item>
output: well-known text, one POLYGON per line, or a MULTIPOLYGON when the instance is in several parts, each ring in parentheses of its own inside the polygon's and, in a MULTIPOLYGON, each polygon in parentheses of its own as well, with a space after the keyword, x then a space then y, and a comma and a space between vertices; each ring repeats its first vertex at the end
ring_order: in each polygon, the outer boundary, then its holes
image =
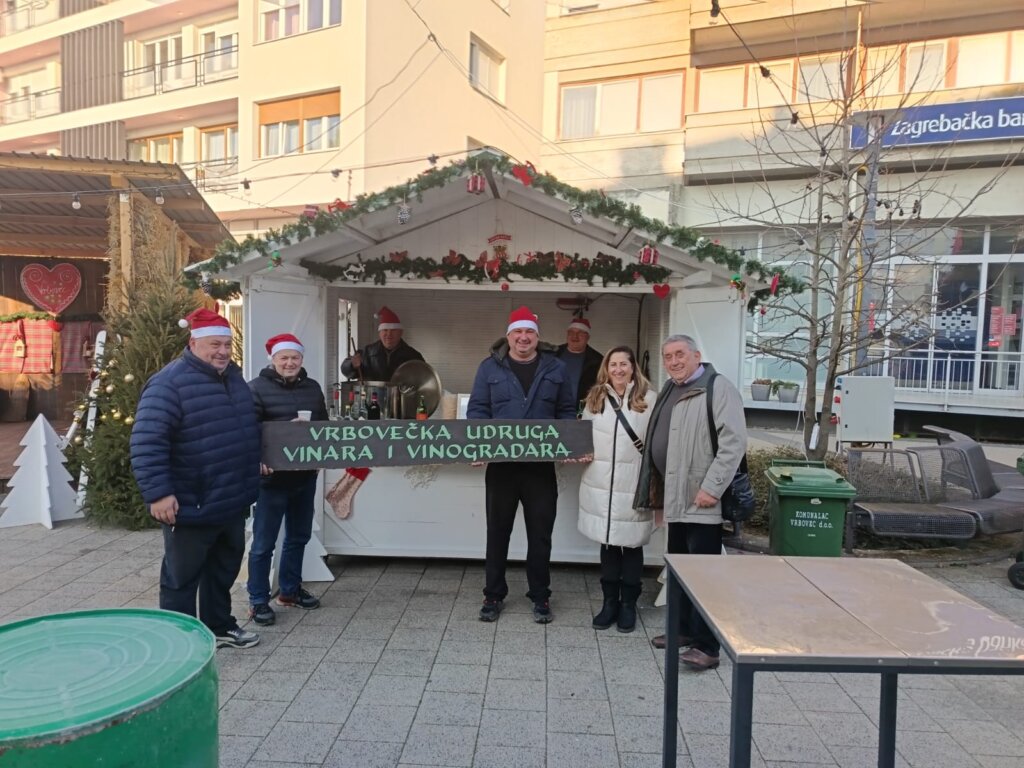
POLYGON ((499 462, 487 465, 487 555, 483 595, 504 600, 509 593, 505 567, 515 515, 522 502, 526 523, 526 597, 535 603, 551 597, 551 532, 555 529, 558 483, 551 462, 499 462))

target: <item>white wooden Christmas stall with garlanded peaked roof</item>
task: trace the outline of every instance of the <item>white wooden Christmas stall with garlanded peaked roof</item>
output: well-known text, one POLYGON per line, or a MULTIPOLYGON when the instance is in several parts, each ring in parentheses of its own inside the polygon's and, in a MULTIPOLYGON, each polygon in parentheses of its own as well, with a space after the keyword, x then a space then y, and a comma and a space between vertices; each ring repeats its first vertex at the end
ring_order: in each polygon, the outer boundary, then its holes
MULTIPOLYGON (((248 377, 265 365, 267 338, 294 333, 309 375, 329 392, 339 383, 339 417, 350 389, 340 366, 376 340, 375 314, 386 306, 442 389, 427 425, 464 414, 476 369, 517 306, 539 316, 541 338, 552 344, 586 317, 591 347, 634 347, 655 386, 664 379, 660 341, 670 333, 694 336, 706 358, 735 381, 748 305, 793 287, 698 232, 487 154, 350 203, 310 206, 282 231, 225 244, 189 274, 214 296, 241 292, 248 377)), ((481 467, 465 457, 431 463, 429 452, 406 466, 361 464, 360 471, 335 465, 322 473, 319 536, 328 553, 482 557, 481 467)), ((579 464, 557 468, 555 560, 597 557, 577 531, 581 472, 579 464)), ((524 556, 521 525, 511 553, 524 556)), ((648 548, 651 563, 659 553, 658 545, 648 548)))

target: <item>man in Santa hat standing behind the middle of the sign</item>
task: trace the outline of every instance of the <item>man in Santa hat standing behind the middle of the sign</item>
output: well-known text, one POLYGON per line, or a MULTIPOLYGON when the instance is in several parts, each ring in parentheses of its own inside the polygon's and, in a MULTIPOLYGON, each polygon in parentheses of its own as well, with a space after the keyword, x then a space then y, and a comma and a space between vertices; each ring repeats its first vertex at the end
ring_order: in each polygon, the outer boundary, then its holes
MULTIPOLYGON (((574 419, 575 386, 553 348, 540 347, 537 315, 519 307, 509 315, 504 339, 476 371, 466 416, 469 419, 574 419)), ((480 621, 494 622, 509 588, 505 581, 509 540, 522 502, 526 523, 526 593, 534 621, 552 620, 551 534, 558 484, 553 462, 493 462, 486 470, 487 553, 480 621)))

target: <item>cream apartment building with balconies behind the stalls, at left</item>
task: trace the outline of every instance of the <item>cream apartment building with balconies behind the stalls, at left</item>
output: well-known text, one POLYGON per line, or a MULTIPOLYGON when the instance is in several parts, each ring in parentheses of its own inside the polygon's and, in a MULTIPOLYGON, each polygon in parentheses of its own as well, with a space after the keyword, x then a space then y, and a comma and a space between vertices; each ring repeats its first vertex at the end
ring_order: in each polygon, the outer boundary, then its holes
MULTIPOLYGON (((0 150, 179 164, 232 233, 539 154, 543 5, 8 0, 0 150), (415 11, 414 11, 415 9, 415 11), (536 129, 535 129, 536 131, 536 129)), ((2 187, 0 183, 0 187, 2 187)), ((2 189, 0 189, 2 195, 2 189)))

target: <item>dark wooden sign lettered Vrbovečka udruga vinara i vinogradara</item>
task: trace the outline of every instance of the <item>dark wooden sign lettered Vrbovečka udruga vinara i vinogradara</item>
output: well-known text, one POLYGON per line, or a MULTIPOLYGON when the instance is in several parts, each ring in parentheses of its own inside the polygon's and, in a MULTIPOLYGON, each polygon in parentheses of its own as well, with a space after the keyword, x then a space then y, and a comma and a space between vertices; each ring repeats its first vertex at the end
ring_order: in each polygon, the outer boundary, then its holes
POLYGON ((594 451, 575 420, 274 421, 263 423, 271 469, 404 467, 579 459, 594 451))

